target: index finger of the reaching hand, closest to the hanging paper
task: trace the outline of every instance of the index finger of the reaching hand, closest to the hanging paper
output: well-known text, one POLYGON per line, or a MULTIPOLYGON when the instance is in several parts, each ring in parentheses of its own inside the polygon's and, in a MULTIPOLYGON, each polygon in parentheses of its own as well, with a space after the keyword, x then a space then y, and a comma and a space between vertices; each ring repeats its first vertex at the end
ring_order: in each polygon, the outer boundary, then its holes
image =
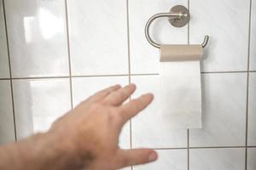
POLYGON ((127 122, 131 117, 136 116, 138 112, 143 111, 153 100, 153 94, 144 94, 137 99, 131 101, 120 107, 122 113, 122 123, 127 122))

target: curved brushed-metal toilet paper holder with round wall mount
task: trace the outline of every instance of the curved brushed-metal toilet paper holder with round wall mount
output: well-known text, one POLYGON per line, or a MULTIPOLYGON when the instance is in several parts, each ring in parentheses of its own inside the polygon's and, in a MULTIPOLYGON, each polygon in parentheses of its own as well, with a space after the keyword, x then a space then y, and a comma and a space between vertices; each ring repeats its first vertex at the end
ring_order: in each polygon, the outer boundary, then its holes
MULTIPOLYGON (((154 42, 154 40, 149 35, 149 27, 152 24, 152 22, 158 18, 168 18, 170 24, 175 27, 183 27, 186 26, 189 23, 190 20, 190 14, 189 9, 182 6, 182 5, 176 5, 171 8, 169 13, 160 13, 160 14, 154 14, 147 22, 145 26, 145 36, 148 40, 148 42, 153 45, 155 48, 160 48, 160 43, 154 42)), ((207 43, 209 41, 209 36, 205 36, 204 41, 201 43, 201 46, 205 48, 207 46, 207 43)))

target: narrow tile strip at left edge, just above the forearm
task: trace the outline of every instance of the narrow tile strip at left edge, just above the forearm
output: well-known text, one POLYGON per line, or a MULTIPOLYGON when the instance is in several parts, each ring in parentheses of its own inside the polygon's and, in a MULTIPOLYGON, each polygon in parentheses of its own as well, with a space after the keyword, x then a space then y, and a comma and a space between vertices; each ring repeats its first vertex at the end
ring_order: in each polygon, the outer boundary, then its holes
POLYGON ((10 82, 0 81, 0 144, 15 141, 15 124, 10 82))

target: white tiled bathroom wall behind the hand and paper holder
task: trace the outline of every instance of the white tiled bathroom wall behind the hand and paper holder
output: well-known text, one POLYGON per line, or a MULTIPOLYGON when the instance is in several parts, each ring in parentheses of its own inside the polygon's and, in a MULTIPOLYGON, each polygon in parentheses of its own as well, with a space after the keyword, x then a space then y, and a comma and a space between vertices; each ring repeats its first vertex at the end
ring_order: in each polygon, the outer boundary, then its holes
POLYGON ((189 26, 152 26, 165 43, 201 43, 201 129, 171 130, 158 100, 128 122, 123 148, 160 159, 127 170, 256 169, 256 0, 0 0, 0 143, 46 131, 97 90, 135 82, 157 97, 159 50, 148 18, 182 4, 189 26), (6 24, 6 25, 5 25, 6 24), (10 69, 10 70, 9 70, 10 69))

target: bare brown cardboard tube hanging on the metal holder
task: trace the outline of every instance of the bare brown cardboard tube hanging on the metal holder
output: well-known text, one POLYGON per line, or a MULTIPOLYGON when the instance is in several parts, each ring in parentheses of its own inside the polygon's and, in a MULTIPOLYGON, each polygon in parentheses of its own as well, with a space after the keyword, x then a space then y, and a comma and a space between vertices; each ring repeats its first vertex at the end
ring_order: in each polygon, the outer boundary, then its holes
POLYGON ((200 60, 203 48, 201 45, 161 45, 160 62, 200 60))

